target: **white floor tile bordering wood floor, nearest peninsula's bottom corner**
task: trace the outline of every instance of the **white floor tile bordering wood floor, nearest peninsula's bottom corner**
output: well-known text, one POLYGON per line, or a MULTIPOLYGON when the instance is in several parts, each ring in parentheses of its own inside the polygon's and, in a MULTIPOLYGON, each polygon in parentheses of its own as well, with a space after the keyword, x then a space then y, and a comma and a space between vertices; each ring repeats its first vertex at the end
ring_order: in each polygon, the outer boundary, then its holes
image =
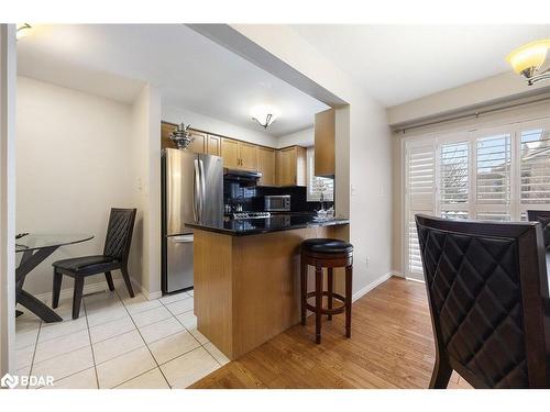
POLYGON ((189 385, 218 369, 218 361, 202 347, 191 350, 161 366, 172 388, 187 388, 189 385))

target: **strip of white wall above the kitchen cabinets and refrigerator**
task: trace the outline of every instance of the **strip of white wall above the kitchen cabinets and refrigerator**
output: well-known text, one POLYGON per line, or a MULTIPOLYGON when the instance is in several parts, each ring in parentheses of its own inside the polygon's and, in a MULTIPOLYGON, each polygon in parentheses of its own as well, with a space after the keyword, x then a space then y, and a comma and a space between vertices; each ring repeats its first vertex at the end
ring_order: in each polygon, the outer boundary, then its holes
POLYGON ((258 145, 277 147, 277 137, 273 137, 266 133, 262 133, 261 131, 254 132, 218 119, 195 113, 184 108, 176 108, 174 105, 163 103, 162 120, 176 124, 184 122, 185 124, 190 124, 191 129, 210 132, 212 134, 220 134, 227 137, 239 138, 241 141, 258 145))

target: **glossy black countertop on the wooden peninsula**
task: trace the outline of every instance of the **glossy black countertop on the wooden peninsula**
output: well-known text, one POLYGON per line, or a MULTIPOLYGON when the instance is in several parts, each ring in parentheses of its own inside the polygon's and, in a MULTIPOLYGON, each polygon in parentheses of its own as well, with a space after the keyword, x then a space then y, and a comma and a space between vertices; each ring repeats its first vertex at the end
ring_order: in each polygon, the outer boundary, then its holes
POLYGON ((186 226, 204 231, 223 233, 232 236, 256 235, 278 231, 292 231, 295 229, 332 226, 350 223, 349 219, 332 219, 328 221, 315 221, 310 215, 273 215, 267 219, 243 219, 227 220, 219 225, 200 223, 186 223, 186 226))

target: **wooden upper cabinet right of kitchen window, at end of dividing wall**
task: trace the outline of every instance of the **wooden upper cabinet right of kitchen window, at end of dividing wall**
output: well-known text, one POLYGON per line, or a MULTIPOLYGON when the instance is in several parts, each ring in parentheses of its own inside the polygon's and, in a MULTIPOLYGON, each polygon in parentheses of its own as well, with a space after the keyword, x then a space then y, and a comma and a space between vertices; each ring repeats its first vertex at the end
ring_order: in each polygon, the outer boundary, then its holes
POLYGON ((336 171, 336 110, 315 115, 315 176, 332 177, 336 171))

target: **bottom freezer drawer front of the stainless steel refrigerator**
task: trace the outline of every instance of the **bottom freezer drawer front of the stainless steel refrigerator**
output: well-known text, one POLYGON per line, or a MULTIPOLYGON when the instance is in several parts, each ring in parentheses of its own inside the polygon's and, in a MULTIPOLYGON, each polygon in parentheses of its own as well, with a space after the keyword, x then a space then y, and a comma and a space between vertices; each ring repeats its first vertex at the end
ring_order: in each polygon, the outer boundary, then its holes
POLYGON ((166 240, 166 292, 193 286, 193 234, 166 240))

